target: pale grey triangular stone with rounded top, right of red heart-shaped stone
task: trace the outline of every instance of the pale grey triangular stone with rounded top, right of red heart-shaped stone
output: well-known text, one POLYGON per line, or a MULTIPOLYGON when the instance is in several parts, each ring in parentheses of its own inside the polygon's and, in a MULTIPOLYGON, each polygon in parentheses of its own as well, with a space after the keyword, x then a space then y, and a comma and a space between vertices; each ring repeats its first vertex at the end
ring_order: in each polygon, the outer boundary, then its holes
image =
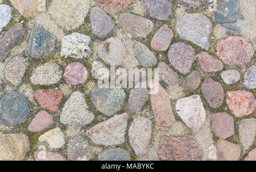
POLYGON ((89 124, 94 119, 94 115, 89 111, 85 102, 84 94, 80 91, 72 93, 65 102, 60 115, 60 122, 72 127, 82 127, 89 124))

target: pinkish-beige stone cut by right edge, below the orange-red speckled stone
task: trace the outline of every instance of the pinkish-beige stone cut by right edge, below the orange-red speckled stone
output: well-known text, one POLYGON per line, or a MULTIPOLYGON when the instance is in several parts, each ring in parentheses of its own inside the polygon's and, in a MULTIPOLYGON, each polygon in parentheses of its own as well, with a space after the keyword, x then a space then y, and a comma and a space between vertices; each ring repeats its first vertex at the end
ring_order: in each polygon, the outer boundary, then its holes
POLYGON ((256 136, 256 119, 242 119, 239 124, 239 139, 243 147, 247 150, 253 144, 256 136))

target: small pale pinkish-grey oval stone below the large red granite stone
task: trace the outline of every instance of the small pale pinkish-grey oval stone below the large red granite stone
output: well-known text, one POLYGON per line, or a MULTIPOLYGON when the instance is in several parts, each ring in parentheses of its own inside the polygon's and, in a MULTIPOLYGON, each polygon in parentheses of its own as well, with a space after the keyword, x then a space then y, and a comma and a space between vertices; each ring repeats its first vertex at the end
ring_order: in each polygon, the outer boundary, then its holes
POLYGON ((232 85, 240 80, 240 73, 233 69, 225 70, 221 72, 221 78, 226 84, 232 85))

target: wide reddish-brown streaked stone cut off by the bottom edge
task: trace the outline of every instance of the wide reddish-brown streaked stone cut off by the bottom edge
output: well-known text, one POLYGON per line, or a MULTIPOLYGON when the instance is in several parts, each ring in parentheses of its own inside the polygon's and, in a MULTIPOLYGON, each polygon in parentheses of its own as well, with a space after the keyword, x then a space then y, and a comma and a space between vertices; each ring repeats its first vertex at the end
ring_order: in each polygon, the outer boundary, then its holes
POLYGON ((158 157, 162 161, 199 161, 203 150, 192 136, 165 136, 159 140, 158 157))

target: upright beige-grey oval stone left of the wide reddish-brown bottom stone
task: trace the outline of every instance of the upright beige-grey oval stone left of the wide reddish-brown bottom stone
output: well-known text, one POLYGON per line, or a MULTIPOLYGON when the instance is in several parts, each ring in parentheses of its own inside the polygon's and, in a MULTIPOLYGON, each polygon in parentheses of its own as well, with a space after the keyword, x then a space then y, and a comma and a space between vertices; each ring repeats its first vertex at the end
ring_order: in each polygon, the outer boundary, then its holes
POLYGON ((135 154, 139 157, 146 156, 151 139, 151 121, 147 118, 135 118, 129 128, 129 141, 135 154))

